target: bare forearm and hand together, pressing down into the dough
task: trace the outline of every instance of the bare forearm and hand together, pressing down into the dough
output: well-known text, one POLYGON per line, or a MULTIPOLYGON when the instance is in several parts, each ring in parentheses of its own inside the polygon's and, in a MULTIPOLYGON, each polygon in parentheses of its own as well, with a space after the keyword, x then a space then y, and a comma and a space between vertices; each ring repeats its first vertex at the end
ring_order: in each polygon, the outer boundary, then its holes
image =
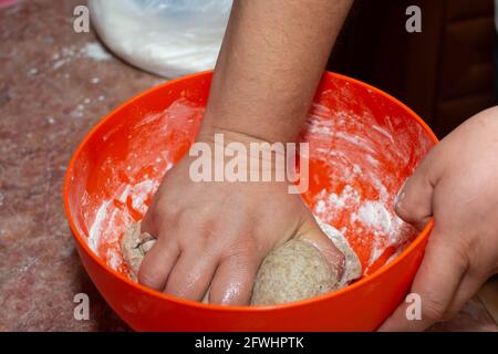
MULTIPOLYGON (((351 2, 236 0, 197 139, 295 139, 351 2)), ((210 289, 211 303, 247 304, 261 261, 295 237, 342 271, 343 254, 284 183, 194 183, 191 163, 186 156, 166 174, 144 217, 157 242, 143 284, 190 300, 210 289)))

